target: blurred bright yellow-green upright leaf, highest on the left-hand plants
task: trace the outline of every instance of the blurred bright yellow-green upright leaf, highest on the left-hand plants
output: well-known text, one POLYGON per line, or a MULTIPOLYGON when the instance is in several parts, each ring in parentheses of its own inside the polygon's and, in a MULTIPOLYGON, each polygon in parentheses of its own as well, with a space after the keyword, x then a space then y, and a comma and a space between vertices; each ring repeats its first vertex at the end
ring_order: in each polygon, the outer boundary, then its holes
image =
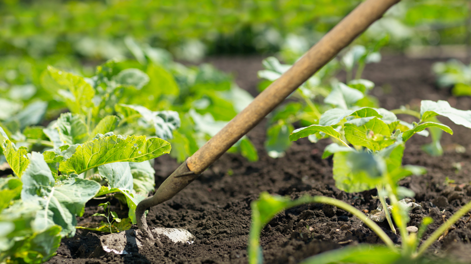
POLYGON ((83 77, 58 70, 52 66, 48 66, 47 71, 56 85, 44 88, 57 89, 56 93, 62 97, 71 112, 86 114, 87 109, 93 107, 92 99, 95 96, 95 90, 83 77))

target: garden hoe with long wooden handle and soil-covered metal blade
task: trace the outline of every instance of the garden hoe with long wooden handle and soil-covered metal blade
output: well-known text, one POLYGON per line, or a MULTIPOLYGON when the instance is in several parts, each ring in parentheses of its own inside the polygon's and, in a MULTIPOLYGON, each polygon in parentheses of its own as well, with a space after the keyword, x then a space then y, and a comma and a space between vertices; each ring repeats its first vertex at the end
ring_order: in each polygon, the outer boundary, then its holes
POLYGON ((359 34, 382 17, 399 0, 365 0, 341 20, 316 45, 311 47, 298 62, 280 78, 260 93, 250 105, 237 114, 223 129, 186 162, 174 171, 157 189, 154 196, 139 202, 136 217, 139 229, 131 229, 101 237, 103 249, 116 254, 138 253, 145 243, 162 245, 160 237, 167 236, 173 242, 193 243, 193 236, 184 229, 149 228, 144 212, 147 208, 165 202, 194 181, 237 140, 242 138, 268 113, 317 70, 329 62, 359 34))

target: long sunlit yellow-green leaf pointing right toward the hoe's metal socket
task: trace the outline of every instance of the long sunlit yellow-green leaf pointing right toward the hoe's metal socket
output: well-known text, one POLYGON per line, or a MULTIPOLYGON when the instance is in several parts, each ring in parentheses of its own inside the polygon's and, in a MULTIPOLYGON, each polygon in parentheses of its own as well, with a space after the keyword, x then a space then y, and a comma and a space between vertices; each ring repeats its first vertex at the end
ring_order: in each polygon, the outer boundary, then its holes
MULTIPOLYGON (((112 134, 112 133, 110 133, 112 134)), ((72 147, 71 147, 72 148, 72 147)), ((169 142, 146 136, 97 135, 75 149, 60 163, 59 171, 81 174, 91 168, 113 162, 142 162, 170 152, 169 142)), ((69 150, 67 150, 69 151, 69 150)))

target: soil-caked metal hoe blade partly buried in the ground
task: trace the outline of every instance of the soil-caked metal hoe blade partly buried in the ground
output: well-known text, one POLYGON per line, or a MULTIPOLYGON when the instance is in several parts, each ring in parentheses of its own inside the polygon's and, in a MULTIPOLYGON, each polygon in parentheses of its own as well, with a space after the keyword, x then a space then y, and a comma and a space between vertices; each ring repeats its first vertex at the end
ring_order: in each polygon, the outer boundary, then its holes
MULTIPOLYGON (((150 229, 154 237, 158 239, 162 235, 167 236, 174 243, 182 242, 193 244, 194 237, 186 229, 154 227, 150 229)), ((103 250, 115 254, 138 253, 143 241, 139 238, 140 230, 130 229, 120 233, 112 233, 100 237, 103 250)))

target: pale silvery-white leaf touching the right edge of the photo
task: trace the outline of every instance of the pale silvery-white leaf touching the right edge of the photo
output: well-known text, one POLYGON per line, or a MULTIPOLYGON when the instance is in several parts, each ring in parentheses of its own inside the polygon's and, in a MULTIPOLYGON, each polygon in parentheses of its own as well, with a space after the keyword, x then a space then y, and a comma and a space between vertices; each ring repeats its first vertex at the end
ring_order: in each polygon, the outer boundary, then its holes
POLYGON ((464 125, 471 128, 471 110, 458 110, 450 106, 447 101, 437 102, 422 100, 420 105, 420 116, 422 120, 427 120, 432 116, 448 117, 455 124, 464 125))

